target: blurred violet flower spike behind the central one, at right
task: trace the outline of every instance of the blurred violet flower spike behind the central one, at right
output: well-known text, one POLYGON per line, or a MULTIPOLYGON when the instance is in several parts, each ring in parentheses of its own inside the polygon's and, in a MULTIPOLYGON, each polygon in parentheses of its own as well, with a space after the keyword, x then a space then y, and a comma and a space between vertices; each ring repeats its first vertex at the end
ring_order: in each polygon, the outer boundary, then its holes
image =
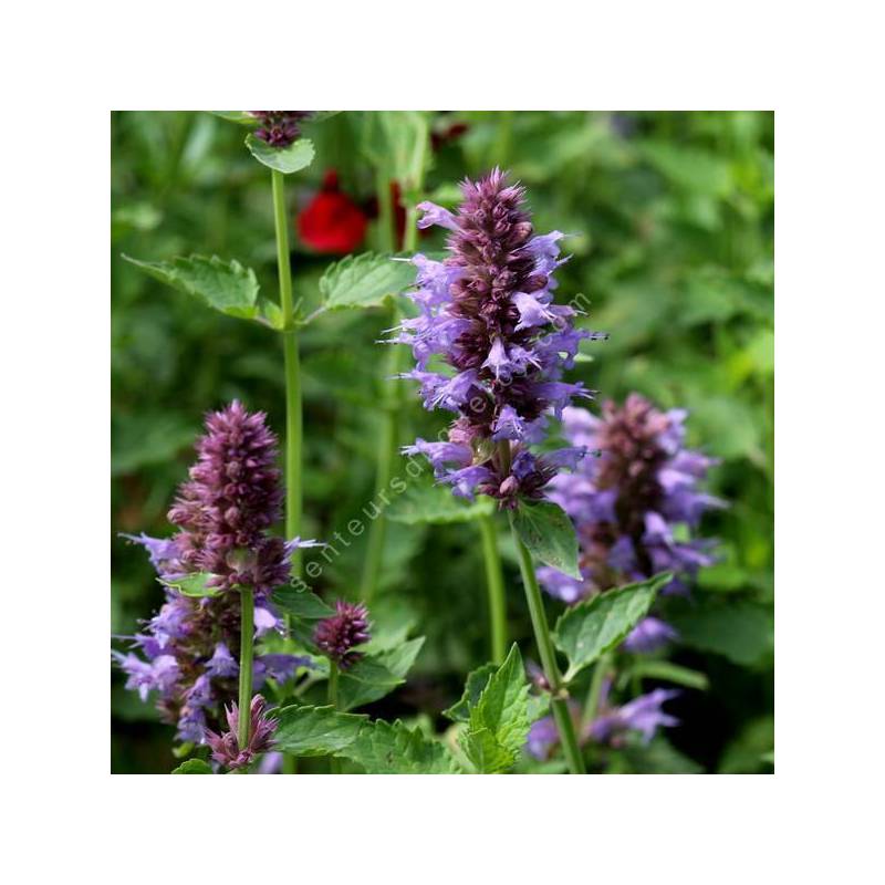
MULTIPOLYGON (((613 586, 673 572, 665 593, 684 592, 704 565, 714 562, 707 539, 677 540, 677 525, 697 529, 718 499, 698 488, 715 464, 685 448, 684 409, 660 412, 639 394, 623 406, 606 403, 601 418, 566 408, 563 430, 574 446, 600 451, 571 476, 556 477, 548 497, 572 518, 581 545, 577 581, 549 566, 538 572, 544 589, 574 603, 613 586)), ((673 638, 671 629, 648 618, 627 647, 648 647, 673 638)))

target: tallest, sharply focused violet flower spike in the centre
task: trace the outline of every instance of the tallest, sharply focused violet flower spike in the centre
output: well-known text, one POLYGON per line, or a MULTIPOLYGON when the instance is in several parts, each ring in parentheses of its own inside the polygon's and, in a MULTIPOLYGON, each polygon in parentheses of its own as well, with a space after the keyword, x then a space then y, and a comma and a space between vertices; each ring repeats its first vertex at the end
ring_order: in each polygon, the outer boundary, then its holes
POLYGON ((418 206, 425 214, 418 227, 451 231, 450 254, 444 261, 414 257, 417 290, 409 298, 420 313, 393 339, 410 344, 417 361, 400 377, 420 383, 426 408, 457 418, 446 441, 418 439, 404 451, 426 456, 455 494, 479 492, 514 508, 520 498, 542 498, 558 470, 573 468, 584 455, 570 447, 537 456, 529 447, 544 438, 551 414, 560 417, 573 397, 592 396, 561 378, 582 339, 605 335, 574 329, 575 310, 554 303, 563 235, 534 235, 523 188, 494 169, 466 180, 461 190, 455 214, 431 202, 418 206))

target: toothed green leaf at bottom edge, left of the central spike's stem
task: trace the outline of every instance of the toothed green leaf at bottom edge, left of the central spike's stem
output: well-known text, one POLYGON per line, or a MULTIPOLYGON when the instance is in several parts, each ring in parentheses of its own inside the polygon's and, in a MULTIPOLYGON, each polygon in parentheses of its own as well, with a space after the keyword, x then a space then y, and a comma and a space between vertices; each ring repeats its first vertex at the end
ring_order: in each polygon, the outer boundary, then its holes
POLYGON ((355 741, 340 753, 362 766, 367 774, 454 774, 451 753, 418 729, 398 719, 391 725, 382 719, 368 722, 355 741))

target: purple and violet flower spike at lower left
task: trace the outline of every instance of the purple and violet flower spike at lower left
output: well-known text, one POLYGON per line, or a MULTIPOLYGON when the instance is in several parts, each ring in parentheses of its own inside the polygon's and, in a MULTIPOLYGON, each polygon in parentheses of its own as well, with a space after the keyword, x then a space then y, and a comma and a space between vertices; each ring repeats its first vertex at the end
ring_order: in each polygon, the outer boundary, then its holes
MULTIPOLYGON (((177 725, 180 740, 194 742, 204 739, 207 721, 218 720, 220 705, 237 697, 240 597, 235 587, 254 587, 258 636, 282 632, 270 594, 289 581, 292 552, 313 545, 267 533, 279 518, 282 490, 274 467, 277 439, 264 415, 249 414, 235 402, 210 414, 206 429, 197 441, 197 464, 169 511, 179 532, 169 539, 126 535, 147 550, 166 602, 132 637, 140 655, 113 653, 128 676, 126 687, 142 700, 156 691, 164 720, 177 725), (169 585, 195 572, 209 573, 207 585, 220 592, 197 598, 169 585)), ((258 655, 253 688, 268 678, 285 681, 309 664, 295 655, 258 655)))

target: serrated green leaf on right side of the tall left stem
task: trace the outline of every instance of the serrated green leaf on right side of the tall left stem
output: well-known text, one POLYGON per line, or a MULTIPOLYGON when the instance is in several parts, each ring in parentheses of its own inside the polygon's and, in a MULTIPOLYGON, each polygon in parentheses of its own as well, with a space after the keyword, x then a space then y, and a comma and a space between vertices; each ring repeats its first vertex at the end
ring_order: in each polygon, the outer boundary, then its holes
POLYGON ((323 309, 329 311, 377 308, 414 284, 415 267, 409 261, 362 252, 330 264, 320 279, 320 294, 323 309))

